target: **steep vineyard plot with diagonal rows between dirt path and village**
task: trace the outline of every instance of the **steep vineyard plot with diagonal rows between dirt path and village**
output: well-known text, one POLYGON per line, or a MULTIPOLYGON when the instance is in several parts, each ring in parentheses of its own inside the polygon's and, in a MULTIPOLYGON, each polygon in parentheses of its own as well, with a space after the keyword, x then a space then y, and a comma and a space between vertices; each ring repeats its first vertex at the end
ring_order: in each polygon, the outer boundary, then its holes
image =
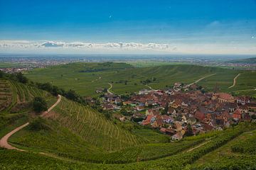
POLYGON ((114 125, 92 108, 65 98, 53 109, 49 118, 58 121, 87 142, 107 151, 132 147, 146 142, 142 137, 133 135, 128 130, 114 125))

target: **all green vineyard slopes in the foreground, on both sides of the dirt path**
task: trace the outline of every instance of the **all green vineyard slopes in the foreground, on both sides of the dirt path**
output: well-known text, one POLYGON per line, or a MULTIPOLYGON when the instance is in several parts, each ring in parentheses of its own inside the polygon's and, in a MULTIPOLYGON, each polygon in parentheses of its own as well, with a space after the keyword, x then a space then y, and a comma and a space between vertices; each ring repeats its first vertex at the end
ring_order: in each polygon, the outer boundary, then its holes
POLYGON ((1 103, 6 103, 0 113, 0 136, 13 128, 9 125, 31 123, 9 139, 11 145, 28 152, 0 149, 0 169, 256 168, 255 123, 164 143, 164 135, 145 128, 127 130, 90 106, 62 97, 39 119, 41 128, 33 129, 37 119, 29 106, 22 106, 34 96, 43 96, 48 105, 56 98, 16 81, 4 80, 0 86, 1 103))

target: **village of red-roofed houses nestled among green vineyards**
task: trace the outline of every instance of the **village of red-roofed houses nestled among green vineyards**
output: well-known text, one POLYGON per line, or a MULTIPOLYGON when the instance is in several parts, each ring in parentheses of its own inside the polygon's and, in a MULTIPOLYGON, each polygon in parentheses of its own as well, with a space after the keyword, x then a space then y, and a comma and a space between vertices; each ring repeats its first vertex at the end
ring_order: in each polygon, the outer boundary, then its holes
POLYGON ((223 130, 240 121, 254 121, 256 102, 248 96, 205 93, 196 84, 175 83, 166 90, 142 89, 129 98, 112 93, 102 95, 100 106, 120 121, 158 129, 172 140, 223 130))

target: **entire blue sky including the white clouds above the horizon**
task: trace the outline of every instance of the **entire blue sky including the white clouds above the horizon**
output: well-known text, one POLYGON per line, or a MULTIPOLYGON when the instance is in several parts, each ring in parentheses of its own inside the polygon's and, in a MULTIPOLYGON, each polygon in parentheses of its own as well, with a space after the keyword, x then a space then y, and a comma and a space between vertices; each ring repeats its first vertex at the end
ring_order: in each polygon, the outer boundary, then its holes
POLYGON ((0 0, 0 52, 256 55, 256 0, 0 0))

